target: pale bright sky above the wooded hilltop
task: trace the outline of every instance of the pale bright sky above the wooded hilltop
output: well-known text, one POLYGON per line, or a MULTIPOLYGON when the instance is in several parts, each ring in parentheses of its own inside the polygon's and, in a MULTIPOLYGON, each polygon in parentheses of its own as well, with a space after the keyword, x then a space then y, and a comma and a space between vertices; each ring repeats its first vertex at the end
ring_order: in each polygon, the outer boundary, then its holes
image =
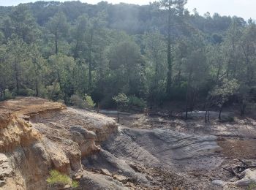
MULTIPOLYGON (((0 0, 0 6, 12 6, 20 3, 27 3, 34 0, 0 0)), ((64 0, 60 0, 64 1, 64 0)), ((101 0, 80 0, 89 4, 97 4, 101 0)), ((109 3, 118 4, 119 2, 126 2, 129 4, 149 4, 154 0, 105 0, 109 3)), ((220 15, 236 15, 244 19, 252 18, 256 20, 256 0, 188 0, 186 5, 189 11, 196 8, 200 15, 210 12, 218 12, 220 15)))

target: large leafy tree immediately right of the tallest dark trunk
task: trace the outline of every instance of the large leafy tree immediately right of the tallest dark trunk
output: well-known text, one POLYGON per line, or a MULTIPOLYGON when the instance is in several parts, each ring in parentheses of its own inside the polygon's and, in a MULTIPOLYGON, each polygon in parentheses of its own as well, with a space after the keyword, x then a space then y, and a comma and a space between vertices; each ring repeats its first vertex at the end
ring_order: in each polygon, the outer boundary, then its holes
POLYGON ((184 37, 177 41, 179 45, 176 50, 175 60, 178 64, 178 78, 181 78, 179 75, 183 73, 182 83, 187 87, 187 118, 188 111, 194 110, 199 93, 203 91, 207 84, 209 69, 206 59, 206 42, 200 34, 192 35, 190 38, 184 37))

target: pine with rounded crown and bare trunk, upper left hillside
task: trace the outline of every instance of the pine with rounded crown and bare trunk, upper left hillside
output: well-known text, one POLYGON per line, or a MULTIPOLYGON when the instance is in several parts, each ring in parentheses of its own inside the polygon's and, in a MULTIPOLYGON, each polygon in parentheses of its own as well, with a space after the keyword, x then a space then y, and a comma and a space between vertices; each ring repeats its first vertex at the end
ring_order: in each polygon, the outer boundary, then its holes
POLYGON ((67 18, 63 12, 57 12, 47 23, 47 28, 54 36, 55 53, 59 52, 58 42, 61 35, 67 33, 67 18))

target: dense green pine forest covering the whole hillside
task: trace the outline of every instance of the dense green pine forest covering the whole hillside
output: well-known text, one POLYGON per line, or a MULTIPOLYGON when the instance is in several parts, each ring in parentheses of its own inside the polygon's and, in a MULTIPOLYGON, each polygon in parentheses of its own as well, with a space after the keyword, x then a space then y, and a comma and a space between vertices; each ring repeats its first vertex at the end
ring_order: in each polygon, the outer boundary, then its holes
POLYGON ((186 2, 0 7, 0 99, 72 104, 89 95, 110 108, 125 94, 129 107, 175 100, 187 111, 202 102, 222 110, 233 102, 243 115, 255 101, 255 23, 189 12, 186 2))

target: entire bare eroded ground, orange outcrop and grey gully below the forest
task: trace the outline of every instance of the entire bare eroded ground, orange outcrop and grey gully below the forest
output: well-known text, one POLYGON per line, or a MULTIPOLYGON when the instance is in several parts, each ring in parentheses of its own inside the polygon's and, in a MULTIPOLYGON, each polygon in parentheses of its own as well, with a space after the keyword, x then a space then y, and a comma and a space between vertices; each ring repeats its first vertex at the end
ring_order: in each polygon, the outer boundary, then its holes
MULTIPOLYGON (((34 97, 0 102, 0 189, 49 189, 50 170, 78 189, 247 189, 254 171, 256 121, 209 123, 144 114, 106 115, 34 97)), ((225 113, 224 113, 225 115, 225 113)), ((255 180, 256 181, 256 180, 255 180)))

